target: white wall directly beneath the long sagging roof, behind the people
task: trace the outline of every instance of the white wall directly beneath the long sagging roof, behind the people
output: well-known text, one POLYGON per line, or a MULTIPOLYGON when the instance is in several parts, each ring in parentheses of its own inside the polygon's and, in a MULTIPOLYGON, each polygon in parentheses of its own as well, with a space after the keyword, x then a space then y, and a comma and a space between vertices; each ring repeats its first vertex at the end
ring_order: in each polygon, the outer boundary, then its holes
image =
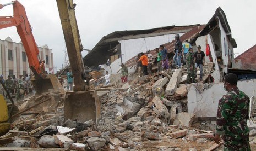
MULTIPOLYGON (((179 33, 180 36, 183 34, 179 33)), ((162 36, 119 40, 119 43, 121 43, 122 62, 125 63, 140 52, 155 49, 161 44, 172 42, 174 39, 175 34, 166 34, 162 36)))

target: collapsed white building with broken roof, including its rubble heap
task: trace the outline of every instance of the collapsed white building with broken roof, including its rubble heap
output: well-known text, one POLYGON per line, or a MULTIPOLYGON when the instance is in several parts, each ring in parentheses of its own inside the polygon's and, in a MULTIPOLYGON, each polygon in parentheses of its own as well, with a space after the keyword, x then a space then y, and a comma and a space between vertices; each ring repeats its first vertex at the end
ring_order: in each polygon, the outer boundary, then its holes
MULTIPOLYGON (((217 8, 206 25, 111 33, 84 58, 84 64, 89 67, 111 62, 105 68, 111 73, 111 85, 104 86, 101 75, 90 73, 94 76, 90 88, 97 92, 95 99, 101 102, 99 121, 64 120, 65 94, 48 90, 41 96, 17 102, 12 130, 0 137, 0 144, 4 146, 0 150, 14 150, 13 147, 17 147, 16 150, 221 149, 221 144, 213 141, 217 101, 224 94, 222 77, 229 73, 234 62, 233 48, 236 42, 221 8, 217 8), (206 57, 200 83, 184 84, 185 67, 139 78, 133 74, 134 56, 138 51, 150 49, 156 57, 155 47, 164 44, 172 58, 176 33, 183 42, 189 40, 193 47, 201 45, 203 51, 209 44, 213 61, 206 57), (135 48, 134 43, 138 44, 135 48), (129 82, 125 84, 119 81, 119 74, 113 74, 121 62, 126 63, 130 72, 129 82), (210 75, 215 83, 210 83, 210 75)), ((238 87, 251 98, 250 145, 255 148, 255 80, 238 82, 238 87)))

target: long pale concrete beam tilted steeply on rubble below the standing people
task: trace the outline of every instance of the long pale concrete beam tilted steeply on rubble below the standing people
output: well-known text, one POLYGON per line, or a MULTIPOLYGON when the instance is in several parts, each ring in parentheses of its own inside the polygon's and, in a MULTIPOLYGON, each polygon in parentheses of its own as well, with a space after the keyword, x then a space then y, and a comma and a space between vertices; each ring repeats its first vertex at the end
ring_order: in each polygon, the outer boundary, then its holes
POLYGON ((178 85, 179 85, 179 80, 181 78, 182 75, 182 68, 181 69, 177 69, 173 74, 172 74, 172 78, 170 79, 168 85, 166 86, 165 89, 165 93, 166 95, 174 95, 175 94, 175 90, 177 89, 178 85))

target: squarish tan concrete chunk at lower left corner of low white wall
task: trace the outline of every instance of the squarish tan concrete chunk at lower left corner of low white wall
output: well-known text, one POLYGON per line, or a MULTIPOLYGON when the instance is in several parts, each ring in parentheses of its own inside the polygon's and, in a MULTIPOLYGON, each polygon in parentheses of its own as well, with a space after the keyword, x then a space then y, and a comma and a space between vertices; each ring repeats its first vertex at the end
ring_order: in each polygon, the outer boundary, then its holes
POLYGON ((188 112, 182 112, 176 114, 175 121, 173 121, 173 124, 182 124, 186 127, 191 127, 192 121, 193 121, 194 114, 188 113, 188 112))

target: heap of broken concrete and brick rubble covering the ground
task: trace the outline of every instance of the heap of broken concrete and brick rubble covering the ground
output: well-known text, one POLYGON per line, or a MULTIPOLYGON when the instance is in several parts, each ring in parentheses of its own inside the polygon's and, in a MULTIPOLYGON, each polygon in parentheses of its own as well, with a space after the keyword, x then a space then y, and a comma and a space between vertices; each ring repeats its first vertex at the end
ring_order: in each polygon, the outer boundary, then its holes
MULTIPOLYGON (((211 72, 206 68, 203 81, 211 72)), ((0 144, 33 150, 214 150, 220 146, 213 141, 215 125, 195 121, 194 115, 187 112, 190 85, 184 84, 184 76, 186 69, 168 69, 125 84, 100 86, 98 123, 64 121, 63 94, 50 90, 31 97, 18 102, 20 111, 49 101, 14 117, 12 130, 0 137, 0 144)), ((256 145, 255 135, 252 130, 252 148, 256 145)))

